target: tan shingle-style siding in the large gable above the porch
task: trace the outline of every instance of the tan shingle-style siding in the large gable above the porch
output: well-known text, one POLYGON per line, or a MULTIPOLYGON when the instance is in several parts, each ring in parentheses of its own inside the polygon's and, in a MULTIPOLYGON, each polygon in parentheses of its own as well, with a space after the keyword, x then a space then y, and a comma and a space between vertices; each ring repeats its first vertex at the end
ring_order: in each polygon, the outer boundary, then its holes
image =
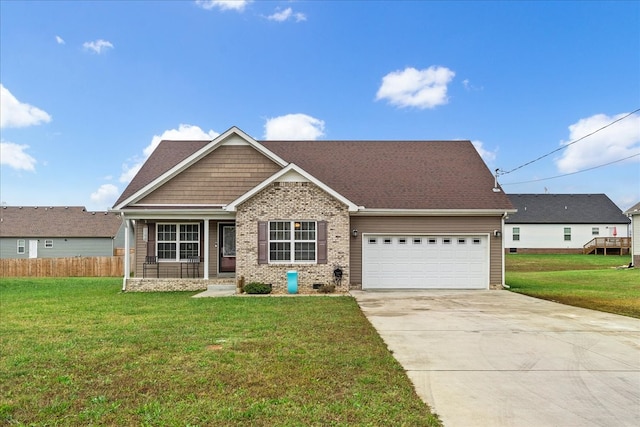
POLYGON ((280 166, 251 146, 221 146, 187 168, 140 204, 227 204, 246 193, 280 166))

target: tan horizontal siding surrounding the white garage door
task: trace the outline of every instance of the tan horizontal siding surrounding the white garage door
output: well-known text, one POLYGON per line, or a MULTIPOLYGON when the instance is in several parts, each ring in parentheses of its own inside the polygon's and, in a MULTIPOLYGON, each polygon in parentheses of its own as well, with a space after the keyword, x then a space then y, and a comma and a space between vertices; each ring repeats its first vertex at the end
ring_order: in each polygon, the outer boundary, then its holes
POLYGON ((501 217, 351 217, 350 230, 357 229, 358 237, 351 237, 351 284, 362 284, 362 235, 365 233, 402 233, 413 235, 475 234, 489 237, 489 283, 502 284, 502 244, 493 237, 501 229, 501 217))

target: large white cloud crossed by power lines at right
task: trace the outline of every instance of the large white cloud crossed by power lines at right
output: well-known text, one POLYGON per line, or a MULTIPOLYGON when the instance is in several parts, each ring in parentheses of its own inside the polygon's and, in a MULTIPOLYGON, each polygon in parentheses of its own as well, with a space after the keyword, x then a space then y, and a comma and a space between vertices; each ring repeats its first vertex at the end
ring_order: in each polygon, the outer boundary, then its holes
MULTIPOLYGON (((567 141, 562 141, 560 145, 568 145, 627 114, 622 113, 611 117, 606 114, 596 114, 580 119, 569 126, 569 138, 567 141)), ((634 114, 568 146, 562 152, 562 156, 556 159, 556 166, 562 173, 572 173, 638 153, 640 153, 640 115, 634 114)), ((639 160, 637 157, 634 159, 639 160)))

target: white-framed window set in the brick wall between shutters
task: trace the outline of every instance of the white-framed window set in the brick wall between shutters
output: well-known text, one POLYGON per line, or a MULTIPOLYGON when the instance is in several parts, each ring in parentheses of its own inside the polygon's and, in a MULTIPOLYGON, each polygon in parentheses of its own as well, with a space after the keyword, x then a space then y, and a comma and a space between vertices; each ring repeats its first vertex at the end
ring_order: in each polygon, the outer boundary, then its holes
POLYGON ((271 221, 269 260, 275 262, 316 261, 315 221, 271 221))

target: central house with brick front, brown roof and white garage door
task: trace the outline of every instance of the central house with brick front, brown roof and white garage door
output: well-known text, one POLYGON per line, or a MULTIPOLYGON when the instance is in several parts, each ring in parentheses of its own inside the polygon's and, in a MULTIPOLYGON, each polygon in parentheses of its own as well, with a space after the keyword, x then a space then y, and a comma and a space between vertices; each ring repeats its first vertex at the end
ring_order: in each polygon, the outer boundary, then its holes
POLYGON ((343 291, 500 288, 513 208, 494 185, 469 141, 163 141, 113 208, 136 253, 123 288, 283 293, 295 271, 308 293, 336 268, 343 291))

